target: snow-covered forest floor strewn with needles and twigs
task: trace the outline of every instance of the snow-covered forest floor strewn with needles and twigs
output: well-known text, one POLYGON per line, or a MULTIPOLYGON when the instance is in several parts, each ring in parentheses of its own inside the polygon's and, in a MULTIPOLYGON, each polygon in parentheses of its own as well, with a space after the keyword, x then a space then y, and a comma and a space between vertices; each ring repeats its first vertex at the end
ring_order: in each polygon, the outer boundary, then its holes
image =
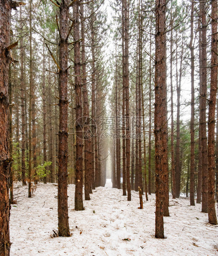
POLYGON ((144 209, 138 209, 136 192, 128 202, 107 180, 84 201, 84 211, 74 211, 74 189, 69 185, 71 237, 53 237, 58 230, 56 186, 39 184, 32 198, 18 198, 10 216, 11 256, 218 255, 218 226, 208 224, 199 204, 170 198, 170 217, 164 218, 167 238, 156 239, 154 194, 147 202, 143 196, 144 209))

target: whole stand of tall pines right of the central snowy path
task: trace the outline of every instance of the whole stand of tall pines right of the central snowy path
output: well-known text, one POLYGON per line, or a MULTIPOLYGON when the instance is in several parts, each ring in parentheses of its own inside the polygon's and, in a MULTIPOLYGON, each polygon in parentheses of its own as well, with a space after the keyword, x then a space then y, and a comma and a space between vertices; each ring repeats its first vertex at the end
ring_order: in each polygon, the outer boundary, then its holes
POLYGON ((178 198, 181 192, 190 197, 190 205, 195 205, 197 196, 197 203, 202 202, 202 212, 208 213, 209 222, 216 224, 215 137, 212 136, 216 123, 213 83, 217 85, 214 80, 217 69, 217 56, 214 57, 217 53, 217 2, 210 5, 205 1, 199 1, 199 4, 187 1, 185 5, 178 5, 172 1, 169 8, 166 1, 156 1, 155 5, 144 5, 139 1, 128 2, 128 8, 125 8, 123 1, 122 4, 116 2, 113 8, 116 10, 114 87, 111 94, 114 117, 111 129, 115 135, 111 141, 113 187, 120 188, 122 184, 125 195, 126 185, 128 188, 130 183, 131 190, 138 191, 140 187, 146 199, 147 190, 148 194, 156 193, 156 237, 164 238, 163 216, 169 216, 170 188, 173 198, 178 198), (125 9, 133 10, 128 12, 128 21, 125 20, 125 9), (207 20, 209 12, 210 20, 207 20), (211 26, 208 25, 210 21, 211 26), (131 38, 128 60, 125 60, 125 24, 128 24, 127 38, 131 38), (190 24, 190 28, 186 24, 190 24), (208 36, 211 45, 207 44, 208 36), (211 55, 208 55, 208 50, 211 50, 211 55), (129 95, 124 90, 127 88, 125 65, 130 68, 129 95), (210 94, 213 95, 210 99, 207 98, 209 69, 210 94), (191 87, 190 100, 186 99, 186 88, 183 88, 187 81, 191 87), (190 111, 188 119, 184 118, 184 111, 190 111), (131 173, 128 175, 130 138, 131 173), (120 177, 123 177, 122 183, 120 177))

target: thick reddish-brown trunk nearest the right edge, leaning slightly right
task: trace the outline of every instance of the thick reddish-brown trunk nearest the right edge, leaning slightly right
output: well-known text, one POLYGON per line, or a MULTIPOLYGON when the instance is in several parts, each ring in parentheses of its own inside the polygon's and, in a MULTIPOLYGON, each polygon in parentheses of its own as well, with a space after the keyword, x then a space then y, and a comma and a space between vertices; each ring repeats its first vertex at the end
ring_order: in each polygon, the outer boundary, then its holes
POLYGON ((211 0, 211 91, 208 111, 208 221, 217 225, 215 210, 215 109, 217 94, 217 0, 211 0))

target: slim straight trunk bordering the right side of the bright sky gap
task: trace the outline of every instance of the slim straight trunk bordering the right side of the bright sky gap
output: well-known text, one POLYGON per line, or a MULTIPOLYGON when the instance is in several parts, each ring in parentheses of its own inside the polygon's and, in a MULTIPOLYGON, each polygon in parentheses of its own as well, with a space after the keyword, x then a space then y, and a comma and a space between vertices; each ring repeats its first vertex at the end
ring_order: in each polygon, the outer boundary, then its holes
POLYGON ((191 134, 191 156, 190 156, 190 205, 195 205, 194 195, 194 174, 195 174, 195 55, 193 45, 193 28, 194 26, 194 0, 191 3, 191 35, 190 35, 190 52, 191 52, 191 121, 190 121, 190 134, 191 134))

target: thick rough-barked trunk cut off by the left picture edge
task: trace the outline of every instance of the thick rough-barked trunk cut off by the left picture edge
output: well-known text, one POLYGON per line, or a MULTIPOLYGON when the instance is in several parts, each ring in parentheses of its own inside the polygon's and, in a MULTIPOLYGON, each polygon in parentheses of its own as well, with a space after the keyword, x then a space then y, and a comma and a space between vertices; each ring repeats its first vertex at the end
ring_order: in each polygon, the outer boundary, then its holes
POLYGON ((0 255, 9 256, 9 158, 8 149, 8 78, 10 55, 7 47, 10 45, 11 1, 0 1, 0 255))

